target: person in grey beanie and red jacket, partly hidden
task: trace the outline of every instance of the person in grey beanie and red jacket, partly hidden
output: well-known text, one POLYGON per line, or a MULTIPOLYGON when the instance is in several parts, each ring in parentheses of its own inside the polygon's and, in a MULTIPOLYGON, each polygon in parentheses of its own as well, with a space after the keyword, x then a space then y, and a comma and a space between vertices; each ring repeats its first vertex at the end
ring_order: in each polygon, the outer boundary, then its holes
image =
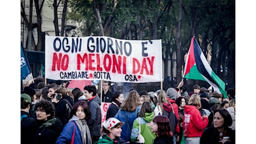
MULTIPOLYGON (((166 97, 169 100, 171 106, 173 107, 174 110, 174 114, 178 120, 178 124, 179 124, 179 107, 176 104, 176 99, 178 97, 178 92, 174 89, 174 88, 168 88, 166 91, 166 97)), ((180 133, 180 126, 176 125, 175 127, 175 135, 174 135, 174 143, 175 141, 179 141, 179 133, 180 133)))

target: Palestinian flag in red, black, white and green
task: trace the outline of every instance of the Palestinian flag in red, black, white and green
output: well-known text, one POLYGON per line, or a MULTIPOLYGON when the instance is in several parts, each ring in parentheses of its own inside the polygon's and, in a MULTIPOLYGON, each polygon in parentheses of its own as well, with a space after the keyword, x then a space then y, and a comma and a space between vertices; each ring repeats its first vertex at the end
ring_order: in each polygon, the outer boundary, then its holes
POLYGON ((194 37, 186 57, 183 78, 207 81, 216 92, 227 97, 225 83, 213 72, 194 37))

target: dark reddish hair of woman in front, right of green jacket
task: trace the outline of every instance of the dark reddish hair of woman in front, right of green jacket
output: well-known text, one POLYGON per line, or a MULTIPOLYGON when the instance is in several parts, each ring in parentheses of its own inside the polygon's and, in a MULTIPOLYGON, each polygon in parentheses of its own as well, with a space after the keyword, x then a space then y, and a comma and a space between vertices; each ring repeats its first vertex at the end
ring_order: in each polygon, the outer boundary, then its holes
POLYGON ((154 117, 153 122, 158 126, 157 136, 170 136, 173 137, 173 132, 171 132, 170 121, 167 116, 158 115, 154 117))

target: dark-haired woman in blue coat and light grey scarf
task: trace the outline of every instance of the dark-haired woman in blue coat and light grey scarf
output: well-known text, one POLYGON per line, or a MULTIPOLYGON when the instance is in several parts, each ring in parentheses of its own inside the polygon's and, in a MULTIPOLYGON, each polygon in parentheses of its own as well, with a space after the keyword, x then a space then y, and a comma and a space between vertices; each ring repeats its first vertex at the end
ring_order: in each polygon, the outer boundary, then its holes
POLYGON ((70 112, 70 120, 63 128, 56 143, 92 143, 90 130, 86 124, 91 119, 91 111, 86 101, 78 101, 70 112))

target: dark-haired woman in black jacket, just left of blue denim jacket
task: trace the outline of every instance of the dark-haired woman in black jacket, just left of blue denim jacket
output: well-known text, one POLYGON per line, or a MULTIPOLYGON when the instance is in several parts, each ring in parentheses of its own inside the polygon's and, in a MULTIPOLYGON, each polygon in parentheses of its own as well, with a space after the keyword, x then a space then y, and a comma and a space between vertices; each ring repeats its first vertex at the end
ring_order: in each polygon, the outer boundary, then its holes
POLYGON ((123 101, 124 94, 121 91, 114 92, 109 109, 107 109, 106 120, 116 115, 123 101))

